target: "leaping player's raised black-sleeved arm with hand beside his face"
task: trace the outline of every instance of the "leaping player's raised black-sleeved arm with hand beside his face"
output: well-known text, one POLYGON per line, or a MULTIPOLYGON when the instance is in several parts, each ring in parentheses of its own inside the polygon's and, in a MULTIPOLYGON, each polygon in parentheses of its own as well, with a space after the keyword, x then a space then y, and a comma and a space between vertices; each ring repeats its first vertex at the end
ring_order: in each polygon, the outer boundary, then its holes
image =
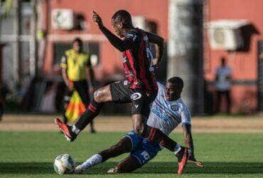
POLYGON ((100 18, 100 16, 95 11, 93 11, 92 21, 94 21, 97 24, 97 26, 99 26, 100 31, 102 31, 104 36, 106 36, 107 39, 109 40, 109 43, 111 43, 112 46, 117 48, 117 50, 123 52, 123 51, 126 51, 126 50, 132 48, 132 43, 130 43, 130 41, 122 41, 122 39, 118 38, 111 31, 109 31, 103 25, 102 19, 100 18))

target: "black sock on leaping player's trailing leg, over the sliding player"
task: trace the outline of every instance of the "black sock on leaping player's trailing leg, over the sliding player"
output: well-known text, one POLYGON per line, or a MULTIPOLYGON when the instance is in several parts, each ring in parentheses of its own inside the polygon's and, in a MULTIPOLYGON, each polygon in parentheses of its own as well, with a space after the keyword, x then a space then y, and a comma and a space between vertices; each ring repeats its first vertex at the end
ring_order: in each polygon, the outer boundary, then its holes
POLYGON ((148 138, 151 142, 155 142, 163 147, 166 147, 171 152, 174 152, 176 149, 177 142, 171 140, 171 138, 155 127, 145 125, 142 136, 148 138))

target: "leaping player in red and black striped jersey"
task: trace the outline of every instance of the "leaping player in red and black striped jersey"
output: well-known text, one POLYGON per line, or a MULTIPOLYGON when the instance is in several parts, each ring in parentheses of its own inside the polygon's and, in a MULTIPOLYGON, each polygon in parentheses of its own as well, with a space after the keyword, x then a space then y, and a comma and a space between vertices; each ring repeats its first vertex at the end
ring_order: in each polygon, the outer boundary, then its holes
MULTIPOLYGON (((94 93, 94 99, 87 110, 75 122, 75 125, 63 124, 58 118, 55 123, 64 132, 67 140, 73 141, 97 115, 102 108, 102 103, 112 101, 115 103, 132 103, 132 125, 134 132, 152 142, 160 143, 163 147, 174 152, 177 143, 163 134, 161 130, 146 125, 149 117, 150 104, 156 98, 158 85, 154 76, 154 67, 158 66, 163 56, 163 38, 154 33, 134 28, 132 16, 125 10, 119 10, 112 16, 112 26, 120 38, 110 32, 102 23, 100 16, 93 11, 92 21, 95 21, 100 31, 104 33, 112 46, 123 53, 127 80, 111 83, 99 88, 94 93), (156 61, 152 60, 149 43, 155 43, 156 61)), ((179 172, 183 171, 188 157, 188 149, 183 147, 178 157, 179 172)))

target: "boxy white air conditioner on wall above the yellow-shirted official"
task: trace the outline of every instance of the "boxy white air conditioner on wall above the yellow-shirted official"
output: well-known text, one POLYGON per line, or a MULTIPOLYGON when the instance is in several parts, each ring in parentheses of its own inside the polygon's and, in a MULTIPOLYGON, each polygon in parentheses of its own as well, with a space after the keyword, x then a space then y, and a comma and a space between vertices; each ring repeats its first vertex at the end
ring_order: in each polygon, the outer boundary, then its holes
POLYGON ((53 9, 52 26, 54 29, 70 30, 74 27, 74 14, 72 9, 53 9))

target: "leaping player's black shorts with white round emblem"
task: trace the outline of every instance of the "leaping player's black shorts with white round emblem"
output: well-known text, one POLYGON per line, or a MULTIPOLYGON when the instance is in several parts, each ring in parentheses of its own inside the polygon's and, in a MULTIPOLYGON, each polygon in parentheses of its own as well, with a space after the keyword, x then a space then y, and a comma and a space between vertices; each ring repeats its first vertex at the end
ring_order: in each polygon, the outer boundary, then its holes
POLYGON ((124 82, 118 81, 109 84, 112 102, 132 103, 132 115, 141 114, 148 118, 150 105, 156 98, 157 90, 150 92, 148 90, 132 89, 124 85, 124 82))

